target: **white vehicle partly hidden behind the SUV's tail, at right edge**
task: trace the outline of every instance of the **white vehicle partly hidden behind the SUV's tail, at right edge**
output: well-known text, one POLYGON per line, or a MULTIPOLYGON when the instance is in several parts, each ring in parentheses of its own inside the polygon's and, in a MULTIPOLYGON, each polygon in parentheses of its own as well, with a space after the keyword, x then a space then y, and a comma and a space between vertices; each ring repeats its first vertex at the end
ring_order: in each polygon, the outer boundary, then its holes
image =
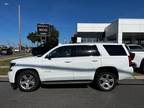
POLYGON ((134 54, 134 68, 144 73, 144 47, 136 44, 128 44, 127 48, 134 54))

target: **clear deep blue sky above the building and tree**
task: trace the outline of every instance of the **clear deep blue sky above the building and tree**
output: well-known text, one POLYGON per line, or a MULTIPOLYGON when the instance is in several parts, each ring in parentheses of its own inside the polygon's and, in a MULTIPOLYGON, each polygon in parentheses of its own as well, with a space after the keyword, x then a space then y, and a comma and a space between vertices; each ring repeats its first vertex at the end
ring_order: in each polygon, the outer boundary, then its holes
MULTIPOLYGON (((0 0, 0 45, 18 43, 19 0, 0 0)), ((37 23, 53 24, 59 42, 70 41, 77 23, 110 23, 118 18, 144 18, 144 0, 21 0, 22 43, 37 23)))

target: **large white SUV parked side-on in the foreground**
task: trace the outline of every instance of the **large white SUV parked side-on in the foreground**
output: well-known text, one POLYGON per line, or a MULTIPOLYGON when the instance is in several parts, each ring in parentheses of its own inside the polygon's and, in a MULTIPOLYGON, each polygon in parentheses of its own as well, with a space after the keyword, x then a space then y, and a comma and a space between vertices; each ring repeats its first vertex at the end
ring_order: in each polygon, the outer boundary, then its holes
POLYGON ((11 61, 8 75, 13 87, 22 91, 34 91, 41 84, 71 83, 92 83, 110 91, 118 80, 132 77, 130 65, 123 44, 65 44, 41 57, 11 61))

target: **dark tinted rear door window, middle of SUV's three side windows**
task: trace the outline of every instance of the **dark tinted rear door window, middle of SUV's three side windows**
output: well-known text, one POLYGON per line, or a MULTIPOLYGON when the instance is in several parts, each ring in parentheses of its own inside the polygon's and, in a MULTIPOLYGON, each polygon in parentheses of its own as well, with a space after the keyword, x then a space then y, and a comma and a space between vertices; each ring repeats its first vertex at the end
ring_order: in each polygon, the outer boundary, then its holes
POLYGON ((75 46, 75 57, 78 56, 99 56, 96 46, 80 45, 75 46))

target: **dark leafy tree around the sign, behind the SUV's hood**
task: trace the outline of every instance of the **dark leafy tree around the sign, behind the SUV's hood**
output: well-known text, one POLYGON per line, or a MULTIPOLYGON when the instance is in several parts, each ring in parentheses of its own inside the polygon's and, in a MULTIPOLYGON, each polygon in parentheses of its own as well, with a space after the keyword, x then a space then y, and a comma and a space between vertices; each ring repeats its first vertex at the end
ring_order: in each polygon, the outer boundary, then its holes
POLYGON ((41 45, 33 48, 33 55, 41 55, 50 50, 51 48, 58 45, 59 32, 54 27, 51 26, 49 36, 46 36, 45 41, 41 39, 43 35, 39 35, 37 32, 31 32, 28 34, 27 39, 31 40, 32 43, 40 43, 41 45))

